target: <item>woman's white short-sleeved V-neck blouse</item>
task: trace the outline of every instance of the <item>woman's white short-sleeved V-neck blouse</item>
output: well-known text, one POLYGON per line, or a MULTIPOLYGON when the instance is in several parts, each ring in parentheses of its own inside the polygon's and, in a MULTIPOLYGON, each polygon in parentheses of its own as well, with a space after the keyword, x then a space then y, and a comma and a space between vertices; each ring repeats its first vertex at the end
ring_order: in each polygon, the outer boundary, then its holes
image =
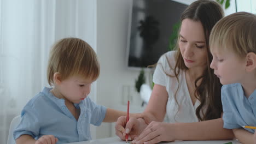
POLYGON ((174 75, 174 67, 176 64, 175 53, 176 51, 169 51, 162 55, 158 61, 158 65, 156 66, 153 75, 153 82, 157 85, 166 87, 166 91, 168 93, 168 101, 166 105, 167 120, 165 121, 169 123, 199 122, 199 119, 196 116, 196 108, 200 105, 200 101, 196 100, 195 105, 193 105, 188 91, 184 70, 180 70, 179 72, 179 89, 177 91, 178 80, 174 75), (166 59, 166 56, 168 60, 166 59), (171 68, 168 62, 170 63, 171 68), (174 77, 166 75, 165 72, 167 74, 173 75, 174 77), (176 91, 176 99, 178 104, 174 99, 174 94, 176 91))

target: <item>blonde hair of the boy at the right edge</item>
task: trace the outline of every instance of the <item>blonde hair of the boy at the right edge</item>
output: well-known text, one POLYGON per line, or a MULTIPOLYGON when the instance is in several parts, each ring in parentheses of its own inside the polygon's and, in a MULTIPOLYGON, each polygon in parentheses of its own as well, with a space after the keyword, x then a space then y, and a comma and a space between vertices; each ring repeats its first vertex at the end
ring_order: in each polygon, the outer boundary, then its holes
POLYGON ((239 57, 256 53, 256 16, 238 12, 224 17, 213 27, 210 35, 211 51, 233 51, 239 57))

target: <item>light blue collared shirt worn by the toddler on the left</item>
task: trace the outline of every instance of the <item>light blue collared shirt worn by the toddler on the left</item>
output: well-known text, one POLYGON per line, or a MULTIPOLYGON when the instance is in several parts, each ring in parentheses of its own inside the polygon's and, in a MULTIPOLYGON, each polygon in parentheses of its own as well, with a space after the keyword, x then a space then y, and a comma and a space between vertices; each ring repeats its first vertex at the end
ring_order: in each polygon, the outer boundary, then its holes
POLYGON ((74 104, 80 108, 78 121, 67 109, 64 99, 55 97, 52 88, 33 97, 21 111, 21 122, 14 131, 14 139, 31 135, 38 139, 43 135, 54 135, 57 143, 91 140, 90 124, 100 125, 106 114, 106 107, 97 105, 89 97, 74 104))

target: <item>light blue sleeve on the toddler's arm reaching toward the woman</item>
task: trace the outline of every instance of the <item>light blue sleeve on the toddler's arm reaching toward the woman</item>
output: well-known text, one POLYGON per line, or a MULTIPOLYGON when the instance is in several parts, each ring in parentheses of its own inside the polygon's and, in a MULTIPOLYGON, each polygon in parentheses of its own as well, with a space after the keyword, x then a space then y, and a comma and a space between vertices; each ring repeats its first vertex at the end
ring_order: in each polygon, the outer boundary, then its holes
POLYGON ((91 109, 91 124, 99 126, 103 122, 107 108, 102 105, 97 105, 90 98, 88 99, 91 109))

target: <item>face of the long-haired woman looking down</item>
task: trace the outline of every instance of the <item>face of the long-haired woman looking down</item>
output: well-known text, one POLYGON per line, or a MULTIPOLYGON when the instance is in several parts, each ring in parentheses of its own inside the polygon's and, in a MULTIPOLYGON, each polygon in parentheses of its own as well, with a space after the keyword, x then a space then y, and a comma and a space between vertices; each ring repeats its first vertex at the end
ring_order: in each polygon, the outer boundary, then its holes
POLYGON ((200 21, 184 19, 179 33, 179 49, 188 68, 205 67, 207 46, 200 21))

